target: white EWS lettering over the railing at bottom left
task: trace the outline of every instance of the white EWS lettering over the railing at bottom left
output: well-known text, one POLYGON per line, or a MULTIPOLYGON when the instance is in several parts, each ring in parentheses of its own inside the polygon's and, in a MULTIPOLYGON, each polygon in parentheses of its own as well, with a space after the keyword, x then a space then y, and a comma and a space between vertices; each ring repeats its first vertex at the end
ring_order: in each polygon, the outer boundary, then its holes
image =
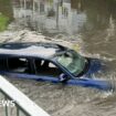
POLYGON ((14 107, 15 106, 15 102, 14 101, 9 101, 9 99, 2 99, 0 101, 0 107, 14 107))

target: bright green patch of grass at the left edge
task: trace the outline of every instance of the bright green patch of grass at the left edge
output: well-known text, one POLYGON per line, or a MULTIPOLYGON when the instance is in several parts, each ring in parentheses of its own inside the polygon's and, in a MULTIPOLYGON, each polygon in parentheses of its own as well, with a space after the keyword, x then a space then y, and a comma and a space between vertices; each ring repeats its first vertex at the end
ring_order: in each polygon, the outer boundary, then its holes
POLYGON ((4 31, 9 24, 9 18, 0 14, 0 31, 4 31))

